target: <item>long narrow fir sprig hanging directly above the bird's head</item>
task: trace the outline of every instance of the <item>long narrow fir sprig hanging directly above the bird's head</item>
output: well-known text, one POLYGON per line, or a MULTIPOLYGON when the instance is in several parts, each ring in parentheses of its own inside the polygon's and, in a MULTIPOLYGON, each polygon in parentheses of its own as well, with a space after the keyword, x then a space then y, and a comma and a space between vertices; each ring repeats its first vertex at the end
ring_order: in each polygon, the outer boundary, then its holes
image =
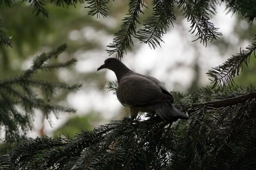
POLYGON ((143 13, 141 11, 141 7, 144 6, 144 1, 142 0, 130 0, 128 17, 123 19, 123 24, 121 25, 121 29, 115 33, 116 38, 114 38, 113 43, 108 45, 110 50, 107 50, 109 55, 116 53, 118 58, 123 57, 124 52, 126 53, 126 49, 130 49, 130 44, 133 45, 132 35, 135 35, 137 24, 139 22, 139 13, 143 13))

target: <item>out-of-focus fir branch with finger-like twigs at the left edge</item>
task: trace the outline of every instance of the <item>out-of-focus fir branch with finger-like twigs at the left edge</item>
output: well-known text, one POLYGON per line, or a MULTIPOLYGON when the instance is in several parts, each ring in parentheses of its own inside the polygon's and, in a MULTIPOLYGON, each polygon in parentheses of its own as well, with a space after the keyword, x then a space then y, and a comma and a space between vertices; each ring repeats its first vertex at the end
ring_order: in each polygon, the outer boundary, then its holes
POLYGON ((1 140, 6 144, 15 144, 33 128, 31 121, 35 109, 41 110, 47 119, 50 114, 75 111, 73 108, 52 104, 51 100, 56 90, 74 91, 81 87, 80 84, 68 85, 33 77, 38 71, 72 66, 76 62, 74 58, 63 63, 52 62, 65 48, 65 45, 61 45, 49 53, 42 53, 21 75, 0 80, 0 129, 5 134, 1 140))

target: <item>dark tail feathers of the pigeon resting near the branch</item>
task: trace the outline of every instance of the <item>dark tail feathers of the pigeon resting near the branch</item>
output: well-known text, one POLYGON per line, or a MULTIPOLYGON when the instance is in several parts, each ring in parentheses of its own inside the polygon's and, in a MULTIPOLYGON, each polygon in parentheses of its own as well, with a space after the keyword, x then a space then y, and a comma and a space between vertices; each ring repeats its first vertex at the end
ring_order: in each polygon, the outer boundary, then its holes
POLYGON ((189 119, 189 116, 176 109, 171 102, 164 102, 153 106, 159 117, 165 121, 177 121, 178 119, 189 119))

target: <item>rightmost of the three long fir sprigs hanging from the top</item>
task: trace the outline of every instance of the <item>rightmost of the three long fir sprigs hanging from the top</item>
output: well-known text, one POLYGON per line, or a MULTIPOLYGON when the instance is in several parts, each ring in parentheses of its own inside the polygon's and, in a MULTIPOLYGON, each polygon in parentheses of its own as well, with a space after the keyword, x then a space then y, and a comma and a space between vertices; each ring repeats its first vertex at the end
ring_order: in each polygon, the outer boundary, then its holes
MULTIPOLYGON (((181 0, 178 8, 182 8, 184 15, 188 21, 191 21, 191 33, 197 31, 195 36, 198 36, 200 42, 207 45, 207 41, 213 41, 218 39, 218 36, 222 35, 217 32, 217 28, 213 23, 209 22, 209 4, 206 0, 181 0)), ((194 41, 196 41, 194 40, 194 41)))

